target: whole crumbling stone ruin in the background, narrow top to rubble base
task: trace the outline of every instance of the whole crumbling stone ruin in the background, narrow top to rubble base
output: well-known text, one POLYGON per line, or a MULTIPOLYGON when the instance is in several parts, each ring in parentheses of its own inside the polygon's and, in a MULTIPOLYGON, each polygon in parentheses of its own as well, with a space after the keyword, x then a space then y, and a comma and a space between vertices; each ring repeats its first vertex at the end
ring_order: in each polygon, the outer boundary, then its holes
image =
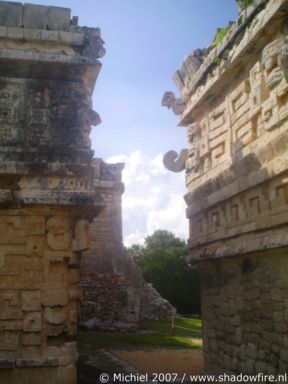
POLYGON ((159 293, 146 284, 123 247, 121 181, 123 164, 94 160, 94 186, 105 208, 90 226, 91 246, 81 260, 84 329, 136 329, 141 319, 167 318, 175 313, 159 293))

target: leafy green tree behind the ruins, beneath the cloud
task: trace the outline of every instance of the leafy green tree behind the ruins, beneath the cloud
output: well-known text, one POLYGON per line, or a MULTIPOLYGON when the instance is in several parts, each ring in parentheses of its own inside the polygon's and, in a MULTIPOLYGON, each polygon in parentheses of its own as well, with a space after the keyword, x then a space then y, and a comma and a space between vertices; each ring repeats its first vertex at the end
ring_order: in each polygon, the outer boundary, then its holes
POLYGON ((187 264, 185 241, 171 232, 157 230, 145 238, 144 246, 132 245, 128 251, 144 279, 179 313, 200 313, 199 268, 187 264))

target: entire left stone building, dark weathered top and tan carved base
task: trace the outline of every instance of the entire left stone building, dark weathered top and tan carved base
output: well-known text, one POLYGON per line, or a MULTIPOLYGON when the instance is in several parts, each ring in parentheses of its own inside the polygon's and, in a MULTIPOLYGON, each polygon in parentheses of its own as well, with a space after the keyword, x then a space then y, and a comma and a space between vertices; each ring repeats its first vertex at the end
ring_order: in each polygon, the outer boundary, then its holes
POLYGON ((0 2, 0 382, 76 383, 79 258, 93 185, 99 29, 0 2))

